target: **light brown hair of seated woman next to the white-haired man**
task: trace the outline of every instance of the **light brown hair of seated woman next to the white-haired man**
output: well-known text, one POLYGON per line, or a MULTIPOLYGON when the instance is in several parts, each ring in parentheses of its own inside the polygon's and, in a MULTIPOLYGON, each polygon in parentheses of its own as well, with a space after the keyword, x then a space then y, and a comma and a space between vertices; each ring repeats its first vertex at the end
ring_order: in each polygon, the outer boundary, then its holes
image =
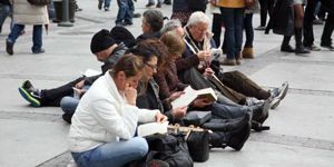
POLYGON ((168 68, 168 65, 171 63, 175 56, 181 56, 186 50, 185 41, 175 32, 168 31, 161 36, 160 41, 167 47, 168 57, 163 57, 165 65, 160 66, 160 70, 168 68))

